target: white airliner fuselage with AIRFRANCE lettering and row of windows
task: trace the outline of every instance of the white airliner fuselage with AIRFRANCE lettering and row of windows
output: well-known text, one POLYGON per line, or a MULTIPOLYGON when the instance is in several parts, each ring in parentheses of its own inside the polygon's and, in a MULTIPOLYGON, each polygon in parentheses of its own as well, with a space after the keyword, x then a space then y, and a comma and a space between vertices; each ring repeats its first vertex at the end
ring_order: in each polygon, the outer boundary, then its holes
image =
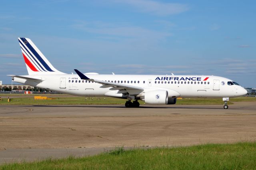
MULTIPOLYGON (((166 90, 168 97, 182 98, 224 98, 238 97, 246 94, 246 90, 239 85, 228 85, 232 80, 219 76, 195 76, 195 75, 87 75, 95 80, 104 80, 119 84, 137 86, 150 90, 166 90), (207 78, 207 80, 204 80, 207 78)), ((53 75, 26 75, 26 77, 39 78, 43 81, 34 81, 22 78, 14 78, 15 82, 28 84, 38 88, 71 94, 76 96, 111 96, 124 98, 113 87, 102 86, 96 82, 81 80, 77 74, 53 74, 53 75)), ((137 95, 140 96, 140 95, 137 95)))

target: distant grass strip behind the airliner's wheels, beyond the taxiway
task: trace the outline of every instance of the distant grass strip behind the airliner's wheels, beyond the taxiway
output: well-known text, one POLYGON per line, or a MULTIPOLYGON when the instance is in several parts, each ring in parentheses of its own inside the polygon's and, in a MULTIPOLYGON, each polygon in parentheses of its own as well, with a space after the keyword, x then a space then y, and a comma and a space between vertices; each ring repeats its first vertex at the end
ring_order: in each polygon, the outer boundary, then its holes
MULTIPOLYGON (((11 102, 7 102, 7 98, 0 101, 0 105, 55 105, 55 104, 124 104, 125 99, 110 98, 110 97, 79 97, 63 94, 54 95, 38 95, 38 94, 4 94, 1 96, 12 98, 11 102), (14 98, 15 96, 15 98, 14 98), (20 98, 19 98, 20 96, 20 98), (34 100, 34 96, 48 96, 50 98, 56 98, 54 100, 34 100), (56 96, 56 97, 54 97, 56 96)), ((1 97, 0 96, 0 97, 1 97)), ((230 98, 231 102, 228 104, 233 104, 232 102, 255 102, 256 97, 238 97, 230 98)), ((139 101, 140 104, 145 104, 143 101, 139 101)), ((178 105, 182 104, 224 104, 222 99, 206 99, 206 98, 182 98, 177 100, 178 105)))

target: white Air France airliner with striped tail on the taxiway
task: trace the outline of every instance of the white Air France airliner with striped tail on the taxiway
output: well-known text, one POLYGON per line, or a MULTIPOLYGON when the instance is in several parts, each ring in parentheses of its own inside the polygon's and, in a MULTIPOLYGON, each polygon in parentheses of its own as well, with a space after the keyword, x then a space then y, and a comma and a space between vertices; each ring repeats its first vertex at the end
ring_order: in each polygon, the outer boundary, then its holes
POLYGON ((176 104, 177 98, 229 98, 247 91, 238 83, 220 76, 198 75, 118 75, 60 72, 28 38, 18 38, 28 75, 12 77, 14 82, 75 96, 108 96, 127 99, 125 107, 139 107, 138 100, 150 105, 176 104), (133 100, 133 102, 132 102, 133 100))

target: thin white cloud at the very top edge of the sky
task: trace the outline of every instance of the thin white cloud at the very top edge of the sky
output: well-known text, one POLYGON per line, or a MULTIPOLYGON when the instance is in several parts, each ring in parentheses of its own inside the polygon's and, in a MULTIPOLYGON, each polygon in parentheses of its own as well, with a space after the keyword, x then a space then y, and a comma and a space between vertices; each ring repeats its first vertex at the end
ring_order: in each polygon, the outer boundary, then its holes
POLYGON ((164 3, 153 0, 115 0, 136 8, 139 12, 150 13, 158 16, 168 16, 186 12, 189 7, 186 4, 164 3))

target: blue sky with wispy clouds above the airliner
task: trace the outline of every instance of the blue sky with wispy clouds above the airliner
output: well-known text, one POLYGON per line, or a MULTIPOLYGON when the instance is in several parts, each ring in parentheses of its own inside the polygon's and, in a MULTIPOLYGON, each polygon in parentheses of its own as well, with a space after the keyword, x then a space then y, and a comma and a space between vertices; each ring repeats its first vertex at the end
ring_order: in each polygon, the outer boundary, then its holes
POLYGON ((0 80, 27 74, 18 37, 62 72, 196 74, 256 87, 256 2, 1 2, 0 80))

